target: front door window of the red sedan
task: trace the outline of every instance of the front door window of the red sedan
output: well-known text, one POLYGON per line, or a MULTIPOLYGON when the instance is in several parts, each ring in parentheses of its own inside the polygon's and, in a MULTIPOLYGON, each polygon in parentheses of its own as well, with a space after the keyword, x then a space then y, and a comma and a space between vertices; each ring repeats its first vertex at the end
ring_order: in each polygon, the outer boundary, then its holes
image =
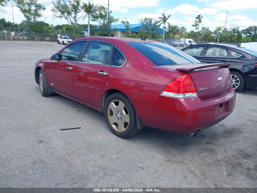
POLYGON ((61 51, 60 59, 64 61, 77 61, 78 55, 85 45, 85 41, 79 41, 77 43, 69 45, 61 51))

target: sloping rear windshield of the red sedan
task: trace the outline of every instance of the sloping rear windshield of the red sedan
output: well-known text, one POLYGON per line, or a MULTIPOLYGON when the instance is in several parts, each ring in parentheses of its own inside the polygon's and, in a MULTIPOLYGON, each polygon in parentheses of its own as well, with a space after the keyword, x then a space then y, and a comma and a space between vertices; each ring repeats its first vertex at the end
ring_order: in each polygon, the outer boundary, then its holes
POLYGON ((156 66, 200 63, 197 59, 168 44, 128 42, 156 66))

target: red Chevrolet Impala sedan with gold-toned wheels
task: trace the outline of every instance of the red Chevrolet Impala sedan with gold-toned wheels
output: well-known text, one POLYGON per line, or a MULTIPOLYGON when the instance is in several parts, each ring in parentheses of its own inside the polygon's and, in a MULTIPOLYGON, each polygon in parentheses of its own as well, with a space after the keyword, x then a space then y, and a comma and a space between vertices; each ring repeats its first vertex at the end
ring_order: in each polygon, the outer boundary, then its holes
POLYGON ((37 61, 35 79, 43 96, 57 93, 104 113, 121 138, 143 127, 194 136, 234 109, 227 66, 161 42, 90 37, 37 61))

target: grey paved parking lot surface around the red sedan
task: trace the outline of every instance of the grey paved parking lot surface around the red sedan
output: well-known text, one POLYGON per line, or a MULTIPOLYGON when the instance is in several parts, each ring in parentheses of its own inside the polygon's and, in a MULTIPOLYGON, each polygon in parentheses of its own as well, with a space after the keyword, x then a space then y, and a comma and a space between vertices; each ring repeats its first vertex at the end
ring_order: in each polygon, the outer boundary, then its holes
POLYGON ((0 41, 0 187, 257 187, 257 91, 195 137, 145 128, 121 139, 104 116, 43 97, 34 63, 63 45, 0 41), (82 127, 76 130, 60 128, 82 127))

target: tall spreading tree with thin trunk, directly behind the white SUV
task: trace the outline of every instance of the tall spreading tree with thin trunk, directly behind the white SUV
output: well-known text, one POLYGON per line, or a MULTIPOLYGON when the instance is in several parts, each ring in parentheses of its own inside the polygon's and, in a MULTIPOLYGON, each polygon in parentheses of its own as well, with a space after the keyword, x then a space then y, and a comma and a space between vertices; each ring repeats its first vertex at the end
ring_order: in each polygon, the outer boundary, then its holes
POLYGON ((53 0, 53 9, 55 17, 64 18, 71 25, 73 34, 78 28, 78 21, 84 16, 80 0, 53 0))

